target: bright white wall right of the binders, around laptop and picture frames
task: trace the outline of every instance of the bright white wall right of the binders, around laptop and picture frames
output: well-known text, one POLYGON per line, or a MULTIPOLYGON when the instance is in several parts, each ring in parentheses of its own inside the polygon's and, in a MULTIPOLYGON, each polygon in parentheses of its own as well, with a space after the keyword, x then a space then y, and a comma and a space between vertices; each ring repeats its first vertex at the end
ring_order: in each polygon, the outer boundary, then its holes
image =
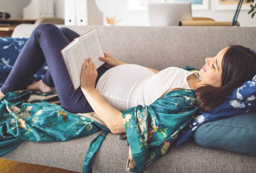
MULTIPOLYGON (((104 15, 114 16, 117 15, 117 19, 122 20, 116 25, 128 25, 128 26, 149 26, 149 18, 147 11, 128 11, 128 0, 95 0, 98 8, 104 13, 104 15), (118 7, 118 8, 117 8, 118 7)), ((232 21, 235 10, 233 11, 215 11, 214 1, 209 0, 209 10, 204 11, 192 11, 193 17, 207 17, 212 18, 215 21, 232 21)), ((238 16, 238 22, 242 27, 256 27, 256 16, 252 19, 251 15, 248 15, 249 10, 240 11, 238 16)), ((106 23, 106 21, 104 20, 106 23)))

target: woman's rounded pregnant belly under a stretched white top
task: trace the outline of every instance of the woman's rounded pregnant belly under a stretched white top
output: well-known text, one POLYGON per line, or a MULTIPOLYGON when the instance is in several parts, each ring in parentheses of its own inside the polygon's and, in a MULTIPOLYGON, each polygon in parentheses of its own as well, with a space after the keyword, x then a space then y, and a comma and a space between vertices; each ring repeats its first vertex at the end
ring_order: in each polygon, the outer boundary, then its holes
POLYGON ((154 72, 140 65, 120 65, 107 70, 100 77, 96 89, 108 103, 123 112, 145 104, 143 85, 153 75, 154 72))

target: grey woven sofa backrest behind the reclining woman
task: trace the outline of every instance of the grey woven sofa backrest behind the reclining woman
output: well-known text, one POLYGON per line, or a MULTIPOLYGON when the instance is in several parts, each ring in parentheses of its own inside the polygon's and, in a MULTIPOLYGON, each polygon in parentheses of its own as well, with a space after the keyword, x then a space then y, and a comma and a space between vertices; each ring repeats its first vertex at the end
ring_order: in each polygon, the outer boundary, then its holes
MULTIPOLYGON (((57 25, 64 27, 64 25, 57 25)), ((12 37, 29 37, 36 25, 17 26, 12 37)), ((256 27, 65 26, 78 34, 98 28, 105 52, 127 63, 162 70, 170 66, 198 69, 230 44, 256 50, 256 27)))

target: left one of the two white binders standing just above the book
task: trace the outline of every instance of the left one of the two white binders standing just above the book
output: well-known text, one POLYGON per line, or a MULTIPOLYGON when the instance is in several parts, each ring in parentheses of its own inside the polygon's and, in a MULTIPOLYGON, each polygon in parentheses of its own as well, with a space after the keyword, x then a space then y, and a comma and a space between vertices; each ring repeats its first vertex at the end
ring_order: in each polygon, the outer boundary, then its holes
POLYGON ((64 6, 65 25, 76 25, 75 0, 65 0, 64 6))

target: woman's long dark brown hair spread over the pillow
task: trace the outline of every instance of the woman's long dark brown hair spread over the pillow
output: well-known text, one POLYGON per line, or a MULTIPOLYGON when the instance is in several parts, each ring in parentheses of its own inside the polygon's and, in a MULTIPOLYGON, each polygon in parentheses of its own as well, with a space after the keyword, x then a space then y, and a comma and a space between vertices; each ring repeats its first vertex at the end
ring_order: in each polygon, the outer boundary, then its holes
POLYGON ((210 111, 225 101, 235 88, 256 75, 256 54, 249 48, 231 45, 222 59, 221 86, 198 87, 196 104, 199 111, 210 111))

